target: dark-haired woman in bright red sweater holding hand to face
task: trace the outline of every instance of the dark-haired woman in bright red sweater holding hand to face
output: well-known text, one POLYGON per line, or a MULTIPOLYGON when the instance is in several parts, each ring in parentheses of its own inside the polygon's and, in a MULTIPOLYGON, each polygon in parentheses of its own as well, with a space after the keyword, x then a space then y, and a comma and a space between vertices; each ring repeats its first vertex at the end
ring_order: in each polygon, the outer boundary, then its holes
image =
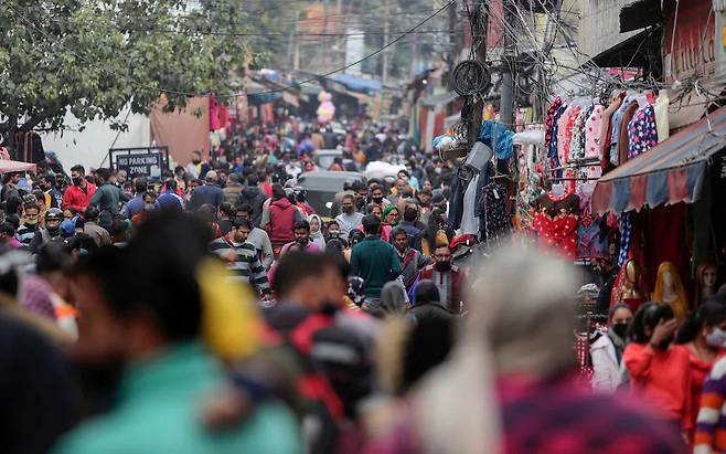
POLYGON ((692 429, 691 360, 687 348, 673 345, 677 320, 664 303, 641 305, 633 317, 622 361, 630 373, 631 392, 650 409, 677 426, 692 429))

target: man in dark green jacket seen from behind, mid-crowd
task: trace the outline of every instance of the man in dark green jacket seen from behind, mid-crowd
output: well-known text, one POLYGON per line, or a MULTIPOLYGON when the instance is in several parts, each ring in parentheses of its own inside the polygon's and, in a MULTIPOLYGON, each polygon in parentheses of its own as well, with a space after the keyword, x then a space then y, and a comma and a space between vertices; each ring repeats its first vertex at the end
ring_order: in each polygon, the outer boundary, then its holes
POLYGON ((381 289, 401 274, 401 260, 396 250, 381 240, 381 220, 375 215, 363 218, 365 240, 353 246, 351 255, 352 275, 365 282, 365 296, 381 298, 381 289))

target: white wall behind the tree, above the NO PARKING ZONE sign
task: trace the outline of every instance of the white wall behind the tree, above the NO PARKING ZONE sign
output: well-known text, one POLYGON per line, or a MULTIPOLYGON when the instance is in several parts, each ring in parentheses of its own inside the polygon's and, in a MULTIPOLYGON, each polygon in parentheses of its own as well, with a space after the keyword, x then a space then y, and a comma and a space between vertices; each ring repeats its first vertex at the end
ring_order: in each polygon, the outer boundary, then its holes
MULTIPOLYGON (((128 109, 124 109, 119 119, 126 118, 128 109)), ((118 133, 109 127, 107 122, 93 120, 78 130, 81 123, 70 112, 66 113, 67 128, 58 133, 42 133, 43 149, 55 151, 66 171, 79 163, 87 169, 108 167, 108 149, 122 147, 149 146, 149 117, 130 114, 128 130, 118 133)))

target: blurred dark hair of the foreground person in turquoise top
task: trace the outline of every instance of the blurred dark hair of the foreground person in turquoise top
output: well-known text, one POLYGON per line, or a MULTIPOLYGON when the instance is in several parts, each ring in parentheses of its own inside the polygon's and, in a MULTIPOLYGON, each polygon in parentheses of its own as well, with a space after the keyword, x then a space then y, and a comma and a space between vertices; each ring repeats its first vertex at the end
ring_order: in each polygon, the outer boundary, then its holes
POLYGON ((209 229, 191 215, 154 213, 128 246, 99 250, 81 263, 79 272, 98 279, 117 317, 150 314, 167 339, 193 338, 202 318, 196 272, 210 236, 209 229), (131 281, 134 292, 128 288, 131 281))

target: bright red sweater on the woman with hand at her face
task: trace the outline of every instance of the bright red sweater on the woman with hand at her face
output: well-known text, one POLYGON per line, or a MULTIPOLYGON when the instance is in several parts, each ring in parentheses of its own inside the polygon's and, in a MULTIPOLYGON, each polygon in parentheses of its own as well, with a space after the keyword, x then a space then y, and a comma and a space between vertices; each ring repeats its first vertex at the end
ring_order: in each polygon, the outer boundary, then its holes
POLYGON ((663 418, 682 422, 691 429, 691 361, 683 346, 671 346, 661 351, 650 344, 630 344, 622 361, 630 372, 632 392, 663 418))

